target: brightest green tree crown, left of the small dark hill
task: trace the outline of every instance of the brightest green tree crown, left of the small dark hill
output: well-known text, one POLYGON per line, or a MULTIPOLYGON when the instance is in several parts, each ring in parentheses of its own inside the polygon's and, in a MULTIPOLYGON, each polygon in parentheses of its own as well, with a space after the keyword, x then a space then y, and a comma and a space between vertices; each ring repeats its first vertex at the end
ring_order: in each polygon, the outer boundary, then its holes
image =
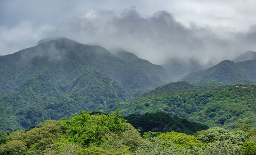
POLYGON ((107 134, 121 135, 129 129, 118 113, 119 110, 112 115, 91 115, 91 112, 80 111, 79 115, 72 116, 70 120, 65 118, 61 122, 60 130, 65 132, 69 142, 80 143, 84 146, 89 146, 91 143, 99 145, 105 140, 107 134))

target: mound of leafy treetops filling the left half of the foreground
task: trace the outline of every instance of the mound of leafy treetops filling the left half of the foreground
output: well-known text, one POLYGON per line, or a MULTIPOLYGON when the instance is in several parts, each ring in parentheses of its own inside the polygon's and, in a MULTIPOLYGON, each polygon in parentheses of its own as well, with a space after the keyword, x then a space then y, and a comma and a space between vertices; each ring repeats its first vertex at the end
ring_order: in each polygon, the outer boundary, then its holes
POLYGON ((39 128, 9 133, 4 138, 7 143, 0 145, 0 153, 13 154, 19 150, 18 154, 131 154, 142 138, 125 121, 119 110, 110 115, 81 111, 70 119, 47 120, 39 128))

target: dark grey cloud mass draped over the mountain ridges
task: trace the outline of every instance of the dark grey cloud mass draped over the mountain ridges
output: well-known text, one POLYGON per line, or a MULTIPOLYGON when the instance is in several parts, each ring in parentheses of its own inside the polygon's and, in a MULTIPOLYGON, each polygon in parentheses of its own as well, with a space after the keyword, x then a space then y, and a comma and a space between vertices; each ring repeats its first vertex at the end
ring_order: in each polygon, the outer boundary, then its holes
POLYGON ((145 18, 134 7, 121 12, 92 10, 63 21, 50 34, 101 44, 108 49, 120 46, 155 64, 176 57, 197 58, 201 63, 219 61, 231 45, 210 28, 182 25, 167 11, 145 18))

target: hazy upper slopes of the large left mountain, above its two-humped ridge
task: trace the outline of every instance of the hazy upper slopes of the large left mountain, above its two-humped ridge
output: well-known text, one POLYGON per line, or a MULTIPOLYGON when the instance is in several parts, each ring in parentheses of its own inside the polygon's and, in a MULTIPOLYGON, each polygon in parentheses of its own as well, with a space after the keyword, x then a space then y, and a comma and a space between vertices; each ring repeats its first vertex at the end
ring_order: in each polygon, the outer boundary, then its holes
MULTIPOLYGON (((133 55, 133 57, 136 57, 133 55)), ((67 85, 83 67, 91 67, 117 81, 135 97, 168 83, 165 69, 136 57, 119 58, 101 46, 84 45, 57 38, 17 53, 0 56, 0 95, 6 95, 31 76, 47 68, 67 85)))

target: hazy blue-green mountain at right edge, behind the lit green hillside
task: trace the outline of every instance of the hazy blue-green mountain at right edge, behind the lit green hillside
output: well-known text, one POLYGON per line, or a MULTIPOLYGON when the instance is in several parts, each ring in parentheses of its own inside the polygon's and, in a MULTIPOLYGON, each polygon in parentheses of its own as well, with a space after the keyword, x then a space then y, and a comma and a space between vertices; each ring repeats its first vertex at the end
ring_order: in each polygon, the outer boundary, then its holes
POLYGON ((234 63, 224 60, 221 63, 197 72, 184 76, 180 81, 198 83, 212 80, 221 85, 253 84, 256 82, 256 60, 247 60, 234 63))

